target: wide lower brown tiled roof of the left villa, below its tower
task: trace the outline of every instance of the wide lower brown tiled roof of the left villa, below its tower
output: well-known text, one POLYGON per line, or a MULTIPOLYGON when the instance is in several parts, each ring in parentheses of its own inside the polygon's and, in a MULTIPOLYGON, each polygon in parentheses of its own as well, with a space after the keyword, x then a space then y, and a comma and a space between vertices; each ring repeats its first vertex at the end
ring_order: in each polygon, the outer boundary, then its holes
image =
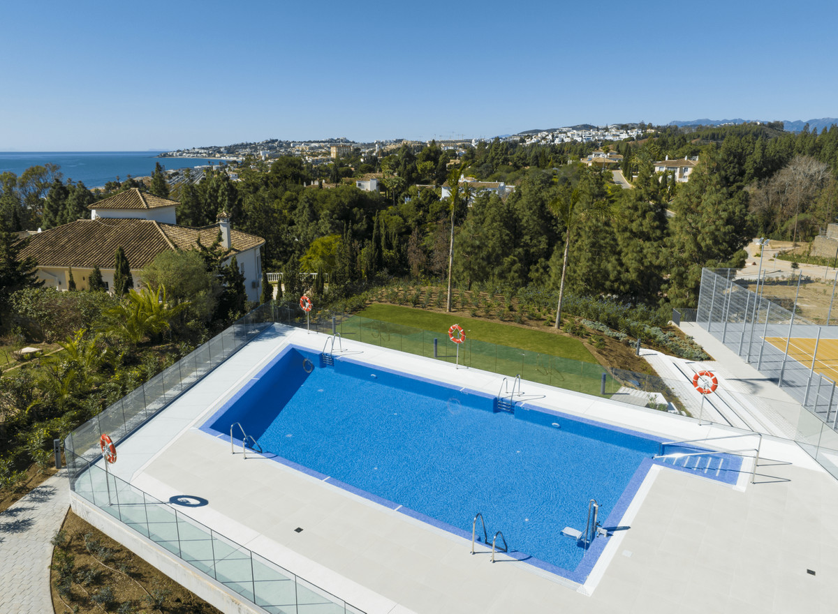
MULTIPOLYGON (((212 245, 219 226, 190 228, 160 224, 150 219, 79 219, 32 235, 18 258, 32 257, 39 266, 75 266, 112 269, 116 248, 122 245, 132 269, 142 269, 164 250, 188 250, 198 244, 212 245)), ((233 253, 265 243, 255 235, 230 230, 233 253)))

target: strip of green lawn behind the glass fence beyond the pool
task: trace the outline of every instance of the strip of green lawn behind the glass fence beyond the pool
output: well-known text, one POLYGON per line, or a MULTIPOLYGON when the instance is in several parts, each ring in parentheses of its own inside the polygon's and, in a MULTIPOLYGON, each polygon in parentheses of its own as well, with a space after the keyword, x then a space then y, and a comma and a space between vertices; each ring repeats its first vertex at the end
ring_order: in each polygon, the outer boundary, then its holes
POLYGON ((597 359, 587 351, 587 348, 578 339, 548 333, 547 331, 521 328, 501 322, 486 322, 485 320, 463 316, 463 314, 427 312, 412 307, 380 303, 370 305, 364 311, 359 312, 358 315, 427 331, 439 331, 443 337, 447 335, 448 328, 453 323, 458 323, 465 330, 467 337, 475 341, 497 343, 509 348, 520 348, 530 352, 546 353, 551 356, 581 360, 584 363, 598 364, 597 359))

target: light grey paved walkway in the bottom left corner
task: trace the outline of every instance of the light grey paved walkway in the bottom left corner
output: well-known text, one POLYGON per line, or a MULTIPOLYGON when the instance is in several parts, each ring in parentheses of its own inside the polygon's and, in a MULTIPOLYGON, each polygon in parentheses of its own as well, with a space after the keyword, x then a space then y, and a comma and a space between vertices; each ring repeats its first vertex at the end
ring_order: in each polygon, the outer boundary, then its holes
POLYGON ((50 540, 70 508, 62 469, 11 508, 0 512, 0 612, 52 612, 50 540))

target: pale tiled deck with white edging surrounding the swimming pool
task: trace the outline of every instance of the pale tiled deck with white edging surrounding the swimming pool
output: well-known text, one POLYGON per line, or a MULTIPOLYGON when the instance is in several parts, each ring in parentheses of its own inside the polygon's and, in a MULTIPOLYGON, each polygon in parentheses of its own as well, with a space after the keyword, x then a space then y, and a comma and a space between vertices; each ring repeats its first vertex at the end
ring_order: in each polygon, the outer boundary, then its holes
MULTIPOLYGON (((471 555, 468 540, 268 458, 231 454, 228 437, 199 431, 285 344, 320 352, 325 339, 273 325, 122 441, 112 471, 163 501, 206 499, 180 511, 370 614, 834 611, 838 482, 789 441, 763 438, 757 483, 747 483, 746 462, 737 488, 654 467, 623 519, 627 528, 577 586, 525 563, 493 565, 485 550, 471 555)), ((349 358, 490 395, 502 379, 364 343, 344 340, 344 348, 349 358)), ((545 395, 537 405, 670 440, 735 432, 540 384, 522 388, 545 395)))

